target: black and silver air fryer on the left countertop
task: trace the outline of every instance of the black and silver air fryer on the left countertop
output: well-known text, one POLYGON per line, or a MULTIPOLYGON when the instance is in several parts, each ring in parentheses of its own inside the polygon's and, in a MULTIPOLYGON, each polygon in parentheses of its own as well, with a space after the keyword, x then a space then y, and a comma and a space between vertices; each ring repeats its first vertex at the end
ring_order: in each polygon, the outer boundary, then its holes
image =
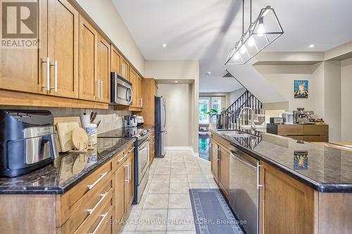
POLYGON ((0 110, 0 176, 21 176, 57 156, 50 111, 0 110))

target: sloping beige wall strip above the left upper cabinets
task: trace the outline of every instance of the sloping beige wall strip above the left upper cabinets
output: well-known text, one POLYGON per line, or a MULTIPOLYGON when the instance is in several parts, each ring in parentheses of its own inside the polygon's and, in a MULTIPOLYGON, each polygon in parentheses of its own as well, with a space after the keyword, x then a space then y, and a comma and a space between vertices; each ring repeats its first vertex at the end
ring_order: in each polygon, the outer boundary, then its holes
POLYGON ((111 0, 74 0, 99 25, 133 66, 144 75, 145 59, 111 0))

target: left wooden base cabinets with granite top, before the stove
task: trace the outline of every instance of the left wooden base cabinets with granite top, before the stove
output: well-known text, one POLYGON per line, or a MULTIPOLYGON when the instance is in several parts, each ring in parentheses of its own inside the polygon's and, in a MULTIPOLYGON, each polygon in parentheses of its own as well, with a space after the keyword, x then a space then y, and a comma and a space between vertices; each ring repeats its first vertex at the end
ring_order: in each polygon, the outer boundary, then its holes
POLYGON ((99 138, 87 153, 0 178, 1 233, 116 233, 134 198, 134 141, 99 138))

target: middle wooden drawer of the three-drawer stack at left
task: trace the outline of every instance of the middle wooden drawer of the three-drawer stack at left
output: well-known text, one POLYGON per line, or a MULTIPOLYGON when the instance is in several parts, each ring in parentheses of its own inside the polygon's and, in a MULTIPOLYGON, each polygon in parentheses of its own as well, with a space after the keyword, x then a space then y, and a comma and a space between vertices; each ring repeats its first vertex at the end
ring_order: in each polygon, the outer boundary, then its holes
POLYGON ((72 216, 61 226, 61 233, 74 233, 77 228, 86 220, 89 216, 96 214, 96 211, 101 207, 101 204, 105 203, 108 197, 113 197, 113 176, 107 183, 99 187, 99 190, 82 206, 77 209, 72 216))

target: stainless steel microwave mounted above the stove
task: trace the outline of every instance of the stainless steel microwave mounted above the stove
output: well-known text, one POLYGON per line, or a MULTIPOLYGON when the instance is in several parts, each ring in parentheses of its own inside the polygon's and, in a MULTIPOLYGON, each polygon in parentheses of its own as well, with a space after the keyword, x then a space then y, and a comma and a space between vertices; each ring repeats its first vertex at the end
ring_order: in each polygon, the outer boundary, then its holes
POLYGON ((111 73, 111 104, 130 106, 132 96, 132 83, 118 73, 111 73))

